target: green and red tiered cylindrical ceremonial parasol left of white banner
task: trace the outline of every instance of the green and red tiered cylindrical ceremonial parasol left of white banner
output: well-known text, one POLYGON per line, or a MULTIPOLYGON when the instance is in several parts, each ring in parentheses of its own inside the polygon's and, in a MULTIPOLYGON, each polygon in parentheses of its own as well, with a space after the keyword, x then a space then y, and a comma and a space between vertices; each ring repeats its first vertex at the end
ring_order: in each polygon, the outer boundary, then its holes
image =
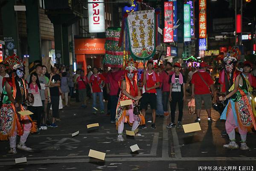
POLYGON ((106 31, 106 54, 103 63, 106 67, 122 68, 123 47, 118 46, 120 27, 109 27, 106 31))

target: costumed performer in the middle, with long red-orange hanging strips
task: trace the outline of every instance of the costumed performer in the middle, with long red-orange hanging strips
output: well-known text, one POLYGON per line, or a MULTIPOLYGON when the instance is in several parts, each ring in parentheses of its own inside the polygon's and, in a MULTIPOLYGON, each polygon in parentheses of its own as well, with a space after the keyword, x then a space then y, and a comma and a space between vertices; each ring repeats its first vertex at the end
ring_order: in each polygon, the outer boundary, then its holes
MULTIPOLYGON (((116 127, 118 130, 117 141, 124 141, 122 132, 124 130, 124 122, 132 125, 131 130, 134 131, 141 124, 145 124, 145 119, 142 115, 134 115, 134 106, 138 105, 139 99, 142 97, 137 84, 137 66, 133 60, 127 61, 125 64, 125 79, 119 81, 121 89, 116 107, 116 127), (120 101, 132 99, 133 104, 121 106, 120 101)), ((137 108, 137 107, 136 107, 137 108)), ((141 136, 137 133, 135 136, 141 136)))

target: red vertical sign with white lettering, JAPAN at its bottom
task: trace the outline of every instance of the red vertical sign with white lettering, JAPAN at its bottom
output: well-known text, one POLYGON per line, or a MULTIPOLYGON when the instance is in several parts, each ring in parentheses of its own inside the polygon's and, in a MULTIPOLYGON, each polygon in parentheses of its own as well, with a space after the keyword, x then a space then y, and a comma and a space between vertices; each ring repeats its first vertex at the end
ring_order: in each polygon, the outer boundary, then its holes
POLYGON ((164 2, 163 42, 173 42, 173 2, 164 2))

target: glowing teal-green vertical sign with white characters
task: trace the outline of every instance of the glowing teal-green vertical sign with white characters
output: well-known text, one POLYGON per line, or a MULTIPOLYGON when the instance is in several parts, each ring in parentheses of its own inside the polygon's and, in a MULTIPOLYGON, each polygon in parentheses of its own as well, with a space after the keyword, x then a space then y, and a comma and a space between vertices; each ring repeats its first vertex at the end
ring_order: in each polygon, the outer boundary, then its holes
POLYGON ((190 5, 184 4, 184 41, 191 41, 190 5))

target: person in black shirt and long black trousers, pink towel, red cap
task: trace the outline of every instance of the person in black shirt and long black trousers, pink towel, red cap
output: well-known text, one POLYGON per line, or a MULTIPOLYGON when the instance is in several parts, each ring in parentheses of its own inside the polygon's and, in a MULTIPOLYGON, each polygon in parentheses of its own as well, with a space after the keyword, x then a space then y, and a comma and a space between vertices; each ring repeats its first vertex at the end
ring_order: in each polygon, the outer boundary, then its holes
POLYGON ((166 127, 172 128, 175 127, 175 110, 178 103, 179 106, 179 118, 178 118, 178 128, 181 128, 181 121, 183 116, 183 101, 186 100, 185 95, 185 84, 186 79, 182 73, 180 73, 181 66, 179 63, 174 64, 174 74, 170 75, 169 83, 170 86, 170 96, 169 100, 171 101, 171 123, 166 127))

